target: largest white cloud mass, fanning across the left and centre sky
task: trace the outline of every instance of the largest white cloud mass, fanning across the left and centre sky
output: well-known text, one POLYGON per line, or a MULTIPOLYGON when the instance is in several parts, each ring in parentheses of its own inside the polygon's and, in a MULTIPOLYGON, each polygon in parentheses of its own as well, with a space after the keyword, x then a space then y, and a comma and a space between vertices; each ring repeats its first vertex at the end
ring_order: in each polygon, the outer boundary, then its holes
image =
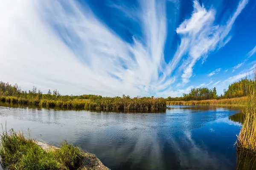
POLYGON ((0 67, 9 70, 1 79, 65 94, 148 96, 168 88, 165 3, 140 6, 145 44, 129 44, 75 1, 1 1, 0 67))

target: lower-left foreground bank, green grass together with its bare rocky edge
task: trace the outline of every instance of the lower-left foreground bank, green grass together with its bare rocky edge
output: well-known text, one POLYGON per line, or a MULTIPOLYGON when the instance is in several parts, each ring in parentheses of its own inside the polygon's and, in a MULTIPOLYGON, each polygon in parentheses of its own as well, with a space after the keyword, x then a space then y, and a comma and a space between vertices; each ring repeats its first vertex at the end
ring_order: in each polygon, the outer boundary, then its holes
POLYGON ((13 129, 0 133, 0 158, 0 164, 6 170, 110 170, 96 155, 65 140, 60 147, 55 147, 26 138, 13 129))

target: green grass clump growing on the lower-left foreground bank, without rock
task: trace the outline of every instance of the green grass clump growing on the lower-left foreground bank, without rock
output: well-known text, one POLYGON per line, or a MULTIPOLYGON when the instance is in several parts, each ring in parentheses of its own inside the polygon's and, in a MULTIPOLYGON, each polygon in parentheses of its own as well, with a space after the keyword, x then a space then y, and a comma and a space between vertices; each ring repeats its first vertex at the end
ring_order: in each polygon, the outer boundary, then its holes
POLYGON ((83 152, 72 144, 63 142, 59 150, 44 151, 23 133, 3 132, 0 135, 1 164, 8 170, 75 170, 83 152))

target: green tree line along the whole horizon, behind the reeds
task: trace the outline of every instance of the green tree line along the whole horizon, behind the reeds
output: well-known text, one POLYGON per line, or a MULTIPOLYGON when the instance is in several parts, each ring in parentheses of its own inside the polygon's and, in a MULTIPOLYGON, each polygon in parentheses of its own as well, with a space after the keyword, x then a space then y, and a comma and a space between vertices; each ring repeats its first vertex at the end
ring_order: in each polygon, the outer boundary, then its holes
MULTIPOLYGON (((228 89, 224 89, 224 95, 217 95, 216 88, 192 88, 188 94, 183 93, 180 97, 167 97, 167 101, 191 101, 191 100, 207 100, 207 99, 230 99, 235 97, 246 96, 247 87, 252 83, 252 79, 241 79, 238 82, 234 82, 229 85, 228 89)), ((90 99, 92 101, 100 100, 103 97, 94 94, 84 94, 84 95, 61 95, 57 89, 51 91, 49 90, 47 94, 43 94, 42 91, 38 90, 35 86, 32 90, 23 91, 17 85, 11 85, 8 82, 0 82, 0 96, 15 96, 17 98, 23 99, 33 99, 33 100, 62 100, 68 101, 73 99, 90 99)), ((130 96, 123 95, 122 97, 116 96, 116 98, 130 99, 130 96)), ((137 98, 140 98, 139 96, 137 98)), ((154 98, 154 96, 151 96, 154 98)))

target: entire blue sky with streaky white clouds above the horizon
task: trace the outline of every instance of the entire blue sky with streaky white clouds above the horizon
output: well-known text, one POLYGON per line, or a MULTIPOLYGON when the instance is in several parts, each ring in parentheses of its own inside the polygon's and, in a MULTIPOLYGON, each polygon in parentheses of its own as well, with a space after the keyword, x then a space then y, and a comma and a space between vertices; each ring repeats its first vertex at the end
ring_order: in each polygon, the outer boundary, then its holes
POLYGON ((1 0, 0 80, 47 93, 223 94, 256 66, 255 0, 1 0))

